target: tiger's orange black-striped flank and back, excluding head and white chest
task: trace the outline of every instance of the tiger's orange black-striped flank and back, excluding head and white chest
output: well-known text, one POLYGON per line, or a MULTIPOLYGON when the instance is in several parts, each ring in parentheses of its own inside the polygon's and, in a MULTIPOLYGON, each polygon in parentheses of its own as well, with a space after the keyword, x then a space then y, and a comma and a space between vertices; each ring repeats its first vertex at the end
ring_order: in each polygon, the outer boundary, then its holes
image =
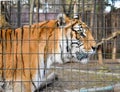
MULTIPOLYGON (((15 30, 11 28, 0 30, 0 76, 2 79, 24 82, 35 77, 40 63, 39 52, 42 56, 47 53, 46 41, 51 39, 57 26, 56 22, 56 20, 50 20, 31 26, 25 25, 15 30)), ((53 45, 49 46, 51 51, 53 45)))

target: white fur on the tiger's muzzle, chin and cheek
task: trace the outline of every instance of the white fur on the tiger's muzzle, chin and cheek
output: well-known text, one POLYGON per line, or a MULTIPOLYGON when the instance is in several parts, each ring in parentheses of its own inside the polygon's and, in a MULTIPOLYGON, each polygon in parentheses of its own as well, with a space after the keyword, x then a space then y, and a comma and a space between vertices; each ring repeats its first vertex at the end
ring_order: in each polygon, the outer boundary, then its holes
POLYGON ((73 39, 72 42, 78 43, 78 44, 72 44, 72 48, 71 48, 71 52, 72 52, 74 61, 80 62, 82 64, 88 63, 89 57, 92 54, 94 54, 95 51, 92 48, 90 50, 85 50, 84 44, 75 38, 73 39))

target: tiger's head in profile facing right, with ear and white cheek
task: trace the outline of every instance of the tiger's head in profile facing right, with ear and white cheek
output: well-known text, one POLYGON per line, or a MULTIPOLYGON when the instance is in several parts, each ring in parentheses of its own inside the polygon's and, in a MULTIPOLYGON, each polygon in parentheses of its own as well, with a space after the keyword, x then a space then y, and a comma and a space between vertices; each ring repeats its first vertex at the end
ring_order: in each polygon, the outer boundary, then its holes
POLYGON ((64 61, 87 63, 96 50, 96 42, 90 28, 80 19, 69 19, 65 15, 61 16, 58 17, 58 24, 64 28, 65 32, 62 37, 63 41, 66 40, 66 44, 61 46, 64 61))

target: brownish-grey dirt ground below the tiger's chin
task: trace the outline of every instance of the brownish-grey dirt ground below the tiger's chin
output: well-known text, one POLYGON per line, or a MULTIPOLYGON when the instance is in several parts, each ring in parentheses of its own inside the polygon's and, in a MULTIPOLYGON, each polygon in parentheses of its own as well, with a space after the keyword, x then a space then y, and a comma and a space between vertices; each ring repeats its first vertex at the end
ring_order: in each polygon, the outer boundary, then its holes
POLYGON ((53 68, 59 79, 40 92, 80 92, 82 88, 98 88, 120 83, 120 63, 111 60, 106 60, 104 65, 92 61, 88 64, 55 64, 53 68))

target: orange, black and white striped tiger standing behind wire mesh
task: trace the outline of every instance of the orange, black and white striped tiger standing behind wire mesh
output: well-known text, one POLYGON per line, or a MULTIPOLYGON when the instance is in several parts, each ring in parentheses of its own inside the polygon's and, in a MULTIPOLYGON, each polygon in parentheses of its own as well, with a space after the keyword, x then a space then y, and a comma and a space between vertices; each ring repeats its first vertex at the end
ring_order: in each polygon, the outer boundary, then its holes
MULTIPOLYGON (((95 54, 92 31, 81 19, 58 14, 54 20, 0 30, 0 76, 4 83, 35 92, 56 77, 53 63, 88 63, 95 54), (46 80, 46 81, 45 81, 46 80)), ((13 87, 14 92, 18 92, 13 87)), ((21 92, 21 91, 20 91, 21 92)))

